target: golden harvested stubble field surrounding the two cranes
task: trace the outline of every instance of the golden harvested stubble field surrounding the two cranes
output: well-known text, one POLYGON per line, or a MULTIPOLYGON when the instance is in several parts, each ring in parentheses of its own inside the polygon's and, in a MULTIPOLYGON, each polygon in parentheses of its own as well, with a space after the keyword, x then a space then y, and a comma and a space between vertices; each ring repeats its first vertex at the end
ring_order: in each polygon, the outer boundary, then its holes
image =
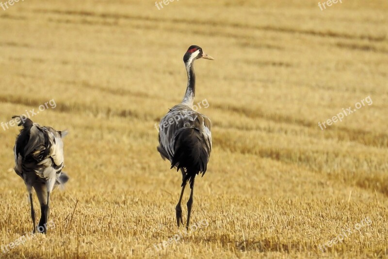
POLYGON ((68 129, 70 176, 51 195, 48 235, 15 245, 32 230, 30 206, 13 171, 18 128, 0 128, 0 257, 387 257, 387 14, 386 0, 0 9, 0 122, 54 100, 31 119, 68 129), (155 123, 182 100, 193 44, 215 58, 195 62, 213 150, 185 233, 181 176, 156 151, 155 123))

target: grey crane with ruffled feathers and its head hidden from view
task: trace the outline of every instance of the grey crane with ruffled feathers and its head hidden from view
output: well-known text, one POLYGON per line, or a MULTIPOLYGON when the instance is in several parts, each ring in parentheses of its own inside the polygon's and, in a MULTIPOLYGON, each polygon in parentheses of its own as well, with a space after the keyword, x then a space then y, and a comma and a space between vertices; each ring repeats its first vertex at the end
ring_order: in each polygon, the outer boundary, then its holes
POLYGON ((18 126, 23 126, 16 138, 14 147, 15 172, 26 184, 30 194, 31 218, 35 233, 35 211, 32 204, 32 188, 38 196, 41 217, 38 232, 47 233, 49 220, 49 197, 56 185, 64 185, 69 179, 62 172, 64 168, 64 144, 66 131, 56 131, 51 127, 40 126, 24 116, 18 118, 18 126))

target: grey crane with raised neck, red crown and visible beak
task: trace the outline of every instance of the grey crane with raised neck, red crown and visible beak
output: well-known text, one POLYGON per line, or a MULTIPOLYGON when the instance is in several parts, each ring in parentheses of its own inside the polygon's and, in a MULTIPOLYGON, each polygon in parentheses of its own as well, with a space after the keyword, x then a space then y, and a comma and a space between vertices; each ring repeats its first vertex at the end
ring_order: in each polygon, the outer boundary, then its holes
POLYGON ((205 58, 214 60, 205 54, 201 47, 190 46, 183 62, 187 71, 187 88, 182 102, 175 105, 163 117, 159 124, 159 146, 157 150, 163 159, 168 159, 173 167, 182 172, 182 191, 177 207, 177 224, 183 224, 182 201, 187 181, 190 183, 190 198, 187 202, 187 222, 189 228, 191 208, 193 205, 194 179, 199 173, 206 173, 211 151, 211 122, 208 117, 193 110, 195 96, 194 60, 205 58))

